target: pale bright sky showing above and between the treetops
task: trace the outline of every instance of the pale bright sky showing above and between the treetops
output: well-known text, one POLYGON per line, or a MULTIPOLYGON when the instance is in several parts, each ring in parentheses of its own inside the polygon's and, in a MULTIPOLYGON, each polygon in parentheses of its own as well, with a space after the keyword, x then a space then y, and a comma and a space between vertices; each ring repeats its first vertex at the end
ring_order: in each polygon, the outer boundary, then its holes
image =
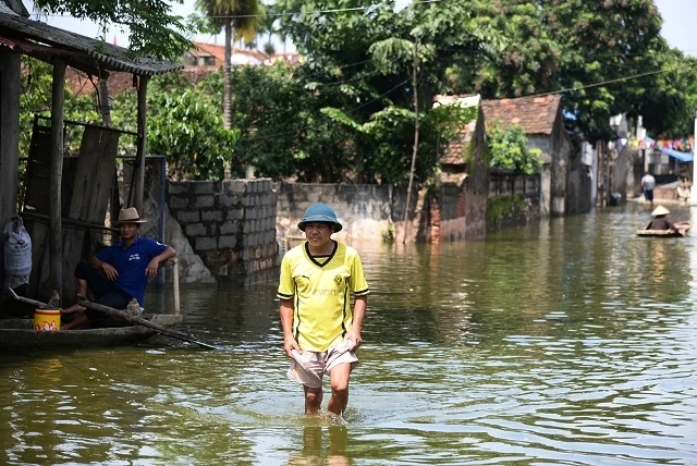
MULTIPOLYGON (((685 53, 697 57, 697 0, 653 0, 663 17, 663 28, 661 34, 671 47, 683 50, 685 53)), ((194 12, 196 0, 184 0, 183 4, 174 3, 172 9, 176 14, 186 16, 194 12)), ((25 0, 24 4, 32 11, 33 3, 25 0)), ((36 16, 32 16, 36 20, 36 16)), ((71 17, 49 16, 41 21, 57 27, 82 34, 89 37, 98 37, 99 26, 88 21, 80 21, 71 17)), ((115 28, 111 28, 107 34, 107 40, 117 45, 127 47, 127 34, 115 28)), ((223 36, 196 36, 194 40, 223 44, 223 36)), ((276 44, 277 50, 283 49, 282 45, 276 44)), ((293 49, 288 46, 288 51, 293 49)))

